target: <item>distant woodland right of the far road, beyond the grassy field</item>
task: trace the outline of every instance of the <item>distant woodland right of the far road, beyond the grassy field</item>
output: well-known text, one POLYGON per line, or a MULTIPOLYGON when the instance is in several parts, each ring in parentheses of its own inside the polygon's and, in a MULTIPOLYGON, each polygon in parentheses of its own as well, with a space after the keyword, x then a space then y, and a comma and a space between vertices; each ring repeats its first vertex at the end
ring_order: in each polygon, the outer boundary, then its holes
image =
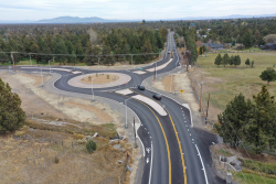
POLYGON ((187 21, 176 29, 179 35, 183 35, 187 30, 193 32, 195 42, 202 41, 203 43, 220 42, 222 44, 232 43, 233 45, 242 43, 245 47, 251 47, 253 45, 259 46, 276 42, 275 19, 187 21), (195 25, 191 25, 191 23, 195 25), (197 30, 199 31, 198 33, 197 30))

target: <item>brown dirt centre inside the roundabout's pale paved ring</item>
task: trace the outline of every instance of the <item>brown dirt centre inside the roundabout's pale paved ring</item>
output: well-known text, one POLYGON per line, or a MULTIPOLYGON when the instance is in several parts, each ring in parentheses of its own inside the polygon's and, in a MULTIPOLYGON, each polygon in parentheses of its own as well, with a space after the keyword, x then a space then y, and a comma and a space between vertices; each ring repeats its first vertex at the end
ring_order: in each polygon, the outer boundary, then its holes
POLYGON ((106 75, 106 74, 99 74, 98 76, 96 75, 91 75, 87 77, 82 78, 79 82, 84 83, 84 84, 92 84, 92 79, 93 79, 93 84, 94 85, 102 85, 102 84, 107 84, 107 83, 113 83, 118 80, 120 77, 117 75, 106 75), (108 78, 109 76, 109 78, 108 78), (89 78, 91 77, 91 78, 89 78), (94 78, 95 77, 95 78, 94 78), (94 78, 94 79, 93 79, 94 78))

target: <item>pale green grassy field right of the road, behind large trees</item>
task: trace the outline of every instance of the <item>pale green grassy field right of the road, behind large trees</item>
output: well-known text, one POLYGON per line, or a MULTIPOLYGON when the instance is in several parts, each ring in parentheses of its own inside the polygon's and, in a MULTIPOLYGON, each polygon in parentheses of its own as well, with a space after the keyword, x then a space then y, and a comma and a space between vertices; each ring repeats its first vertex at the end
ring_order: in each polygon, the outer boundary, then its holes
MULTIPOLYGON (((262 86, 267 84, 259 78, 262 72, 276 64, 276 52, 229 53, 230 56, 237 54, 242 59, 242 64, 237 67, 230 65, 217 67, 214 65, 217 54, 209 54, 208 57, 198 58, 198 64, 204 72, 204 85, 205 90, 208 90, 204 94, 204 99, 208 99, 210 93, 213 97, 212 100, 219 108, 225 108, 234 95, 240 93, 247 98, 252 98, 253 94, 257 94, 262 86), (246 58, 254 59, 254 67, 246 67, 246 58), (212 80, 212 78, 219 80, 212 80)), ((276 82, 272 82, 267 89, 272 96, 275 96, 276 82)))

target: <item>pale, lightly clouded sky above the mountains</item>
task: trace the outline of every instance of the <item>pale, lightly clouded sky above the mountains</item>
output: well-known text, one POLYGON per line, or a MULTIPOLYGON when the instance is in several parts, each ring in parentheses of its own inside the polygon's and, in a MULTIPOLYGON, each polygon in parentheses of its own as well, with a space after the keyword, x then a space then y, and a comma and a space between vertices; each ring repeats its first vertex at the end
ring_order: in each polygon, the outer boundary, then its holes
POLYGON ((275 14, 276 0, 0 0, 0 20, 57 17, 162 20, 232 14, 275 14))

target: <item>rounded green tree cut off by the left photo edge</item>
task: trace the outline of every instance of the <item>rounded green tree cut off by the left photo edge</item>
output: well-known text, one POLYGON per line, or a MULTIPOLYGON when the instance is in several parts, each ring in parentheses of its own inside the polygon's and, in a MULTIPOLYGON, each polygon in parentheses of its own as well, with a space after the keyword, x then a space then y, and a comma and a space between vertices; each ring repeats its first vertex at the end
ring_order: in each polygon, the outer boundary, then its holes
POLYGON ((0 132, 12 131, 21 128, 25 120, 21 99, 11 91, 10 85, 0 78, 0 132))

